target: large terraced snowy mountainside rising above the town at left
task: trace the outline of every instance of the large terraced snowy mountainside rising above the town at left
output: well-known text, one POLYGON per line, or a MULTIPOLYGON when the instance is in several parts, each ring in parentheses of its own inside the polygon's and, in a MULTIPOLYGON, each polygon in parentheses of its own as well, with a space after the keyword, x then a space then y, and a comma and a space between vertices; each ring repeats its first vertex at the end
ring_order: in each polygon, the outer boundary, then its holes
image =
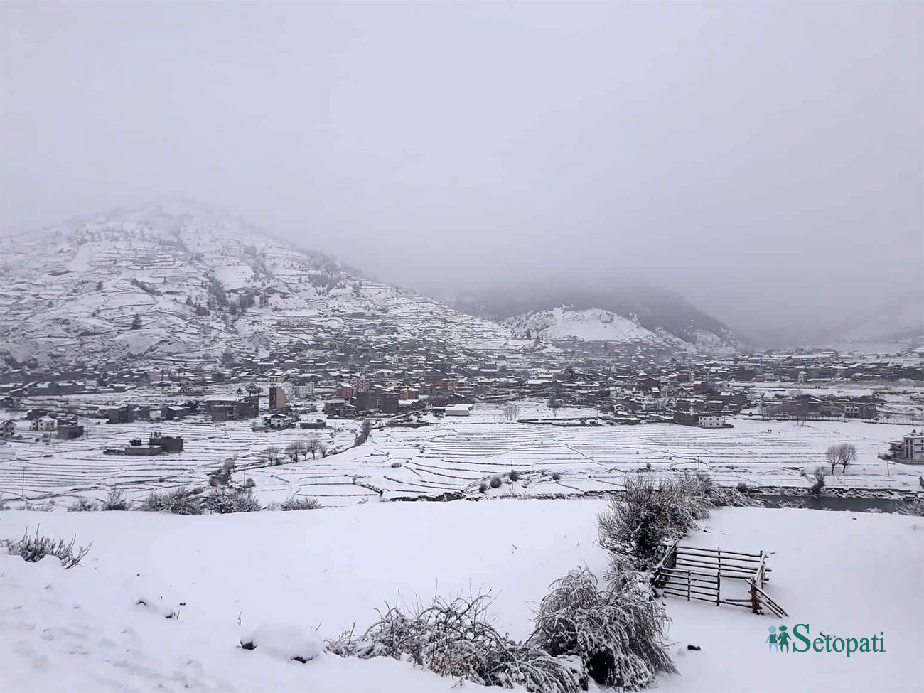
POLYGON ((198 205, 0 239, 0 358, 213 363, 338 335, 501 349, 495 323, 359 278, 198 205))

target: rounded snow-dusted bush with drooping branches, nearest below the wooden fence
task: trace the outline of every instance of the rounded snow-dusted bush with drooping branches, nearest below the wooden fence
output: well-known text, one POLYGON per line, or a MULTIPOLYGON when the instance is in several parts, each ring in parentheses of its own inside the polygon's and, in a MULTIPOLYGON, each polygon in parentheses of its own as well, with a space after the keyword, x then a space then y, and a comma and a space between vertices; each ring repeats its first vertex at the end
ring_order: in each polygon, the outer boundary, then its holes
POLYGON ((673 673, 664 643, 669 622, 644 576, 630 571, 599 589, 586 568, 552 584, 529 641, 553 656, 577 655, 601 686, 636 690, 673 673))

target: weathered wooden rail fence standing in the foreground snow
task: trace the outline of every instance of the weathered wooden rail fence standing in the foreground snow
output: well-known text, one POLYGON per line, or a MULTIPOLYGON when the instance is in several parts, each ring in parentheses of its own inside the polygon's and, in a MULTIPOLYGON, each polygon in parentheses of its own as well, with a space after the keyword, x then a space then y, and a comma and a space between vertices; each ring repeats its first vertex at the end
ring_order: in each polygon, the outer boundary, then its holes
POLYGON ((667 547, 663 559, 655 566, 651 581, 663 594, 686 598, 687 602, 743 606, 755 614, 769 611, 783 617, 787 615, 784 609, 763 590, 770 573, 767 554, 762 551, 742 553, 701 549, 675 542, 667 547), (740 599, 723 597, 723 578, 726 588, 740 585, 741 581, 747 583, 748 596, 740 599))

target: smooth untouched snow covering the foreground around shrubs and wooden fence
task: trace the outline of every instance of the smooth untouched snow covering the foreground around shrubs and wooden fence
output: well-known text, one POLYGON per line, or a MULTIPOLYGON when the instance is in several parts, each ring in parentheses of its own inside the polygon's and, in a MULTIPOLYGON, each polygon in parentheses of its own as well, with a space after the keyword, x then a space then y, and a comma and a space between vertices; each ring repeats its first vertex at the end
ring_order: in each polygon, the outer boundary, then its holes
MULTIPOLYGON (((0 513, 0 536, 93 541, 85 565, 0 556, 0 689, 449 690, 407 663, 309 663, 238 639, 256 628, 309 649, 389 602, 492 590, 500 630, 524 638, 548 584, 606 563, 599 500, 375 504, 288 513, 176 517, 0 513), (146 602, 139 604, 139 601, 146 602), (176 611, 178 618, 165 618, 176 611), (240 625, 238 625, 238 618, 240 625), (306 640, 306 642, 298 642, 306 640)), ((680 675, 659 687, 917 690, 924 649, 924 520, 812 510, 723 509, 690 542, 773 552, 767 590, 785 623, 838 637, 885 633, 884 652, 768 652, 780 622, 744 609, 666 600, 680 675), (687 643, 701 647, 687 651, 687 643)), ((470 684, 465 687, 477 688, 470 684)))

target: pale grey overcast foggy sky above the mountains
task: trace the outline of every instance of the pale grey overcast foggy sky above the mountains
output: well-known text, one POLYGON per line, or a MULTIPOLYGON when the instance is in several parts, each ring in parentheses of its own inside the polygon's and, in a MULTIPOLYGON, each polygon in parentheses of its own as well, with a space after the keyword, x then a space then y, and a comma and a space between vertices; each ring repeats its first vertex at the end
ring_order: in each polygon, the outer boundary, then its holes
POLYGON ((755 334, 920 290, 924 4, 0 3, 0 230, 182 194, 755 334))

